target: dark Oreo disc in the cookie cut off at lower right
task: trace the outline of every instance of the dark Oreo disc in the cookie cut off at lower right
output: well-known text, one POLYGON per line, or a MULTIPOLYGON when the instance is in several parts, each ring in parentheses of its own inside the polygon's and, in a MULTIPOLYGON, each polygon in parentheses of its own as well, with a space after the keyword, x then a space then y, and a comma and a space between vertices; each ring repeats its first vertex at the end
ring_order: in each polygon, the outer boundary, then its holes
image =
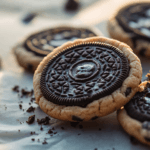
POLYGON ((141 122, 150 121, 150 83, 147 83, 144 91, 135 94, 125 105, 125 109, 128 115, 134 119, 141 122))

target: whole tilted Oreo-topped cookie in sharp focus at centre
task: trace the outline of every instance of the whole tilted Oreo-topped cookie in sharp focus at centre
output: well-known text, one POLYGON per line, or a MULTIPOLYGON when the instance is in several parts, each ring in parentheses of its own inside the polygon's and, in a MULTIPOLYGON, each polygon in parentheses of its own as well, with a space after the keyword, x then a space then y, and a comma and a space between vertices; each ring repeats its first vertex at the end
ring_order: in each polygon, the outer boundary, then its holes
POLYGON ((78 39, 42 60, 33 78, 34 94, 51 117, 94 120, 125 105, 141 76, 140 60, 128 45, 105 37, 78 39))

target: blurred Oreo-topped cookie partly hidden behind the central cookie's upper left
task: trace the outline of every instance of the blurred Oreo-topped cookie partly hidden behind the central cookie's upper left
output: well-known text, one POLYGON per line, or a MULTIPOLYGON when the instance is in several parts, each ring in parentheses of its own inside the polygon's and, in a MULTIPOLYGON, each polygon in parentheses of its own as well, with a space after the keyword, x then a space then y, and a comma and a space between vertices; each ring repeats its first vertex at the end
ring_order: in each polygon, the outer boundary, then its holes
POLYGON ((59 26, 31 34, 13 48, 20 66, 34 72, 42 59, 54 48, 78 38, 101 35, 95 28, 59 26))

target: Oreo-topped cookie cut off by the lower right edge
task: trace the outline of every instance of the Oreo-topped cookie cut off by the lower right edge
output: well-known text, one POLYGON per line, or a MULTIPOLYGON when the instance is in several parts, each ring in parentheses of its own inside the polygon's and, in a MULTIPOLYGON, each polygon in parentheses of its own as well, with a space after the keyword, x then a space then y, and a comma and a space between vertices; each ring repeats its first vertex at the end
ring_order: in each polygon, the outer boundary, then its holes
POLYGON ((149 79, 139 85, 139 90, 131 101, 118 111, 118 121, 128 134, 140 142, 150 145, 149 79))

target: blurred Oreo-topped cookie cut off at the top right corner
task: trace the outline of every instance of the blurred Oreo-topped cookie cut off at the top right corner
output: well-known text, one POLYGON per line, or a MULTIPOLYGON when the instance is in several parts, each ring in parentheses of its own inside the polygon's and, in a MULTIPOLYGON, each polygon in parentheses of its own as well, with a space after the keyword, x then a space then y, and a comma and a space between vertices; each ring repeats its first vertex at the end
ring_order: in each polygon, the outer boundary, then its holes
POLYGON ((136 54, 150 57, 150 3, 123 7, 108 21, 112 38, 127 43, 136 54))

